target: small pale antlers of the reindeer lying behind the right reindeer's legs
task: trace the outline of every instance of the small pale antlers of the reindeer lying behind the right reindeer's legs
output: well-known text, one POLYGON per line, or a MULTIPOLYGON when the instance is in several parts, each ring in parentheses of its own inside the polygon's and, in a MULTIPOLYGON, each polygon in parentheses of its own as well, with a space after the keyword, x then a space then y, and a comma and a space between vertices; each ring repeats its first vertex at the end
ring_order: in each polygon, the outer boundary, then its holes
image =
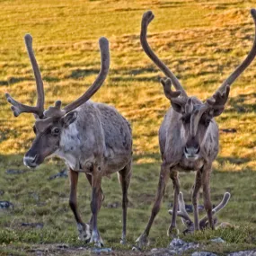
MULTIPOLYGON (((212 209, 212 215, 214 216, 217 212, 223 209, 228 203, 229 199, 230 199, 230 193, 225 192, 222 201, 214 209, 212 209)), ((172 210, 169 210, 168 212, 169 214, 172 215, 172 210)), ((181 216, 182 223, 186 225, 186 227, 188 228, 188 230, 186 231, 191 232, 194 230, 194 223, 192 222, 188 212, 186 211, 182 192, 180 192, 179 194, 179 211, 177 212, 177 216, 181 216)), ((199 227, 200 229, 204 229, 206 228, 206 226, 207 226, 207 216, 204 216, 199 221, 199 227)))

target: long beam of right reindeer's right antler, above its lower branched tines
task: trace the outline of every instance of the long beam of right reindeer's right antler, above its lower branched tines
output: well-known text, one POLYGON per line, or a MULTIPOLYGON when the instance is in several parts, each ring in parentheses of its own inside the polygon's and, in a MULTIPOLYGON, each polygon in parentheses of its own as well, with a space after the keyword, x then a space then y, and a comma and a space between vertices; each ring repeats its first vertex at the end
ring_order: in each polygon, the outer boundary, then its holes
POLYGON ((231 85, 234 83, 235 79, 243 73, 243 71, 246 69, 247 66, 249 66, 252 63, 252 60, 256 56, 256 10, 252 9, 251 10, 253 22, 255 25, 255 35, 254 35, 254 41, 252 45, 252 49, 249 52, 248 56, 243 60, 243 63, 240 66, 237 66, 234 70, 234 72, 229 75, 225 82, 221 84, 221 86, 217 89, 217 91, 223 93, 225 91, 225 87, 227 85, 231 85))

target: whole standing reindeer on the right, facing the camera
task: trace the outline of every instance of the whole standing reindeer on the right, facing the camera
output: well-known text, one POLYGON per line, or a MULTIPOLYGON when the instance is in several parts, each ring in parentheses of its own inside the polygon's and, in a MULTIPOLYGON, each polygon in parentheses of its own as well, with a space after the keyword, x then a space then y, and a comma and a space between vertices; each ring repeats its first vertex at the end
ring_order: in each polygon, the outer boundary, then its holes
MULTIPOLYGON (((256 26, 256 10, 252 9, 251 13, 256 26)), ((230 85, 252 63, 256 55, 256 38, 254 38, 252 49, 249 55, 243 60, 243 63, 234 70, 216 90, 216 93, 203 103, 198 98, 187 95, 177 77, 163 64, 148 45, 146 31, 148 24, 153 19, 154 14, 151 11, 144 13, 141 22, 140 42, 146 55, 167 76, 166 79, 161 79, 161 84, 163 84, 163 92, 166 98, 170 100, 172 108, 167 111, 159 129, 159 146, 163 163, 161 165, 154 206, 144 233, 137 238, 138 247, 146 245, 146 239, 154 222, 154 217, 160 210, 168 176, 170 176, 173 183, 174 201, 172 222, 167 234, 173 236, 177 232, 176 217, 178 195, 180 193, 178 172, 180 171, 196 172, 195 184, 192 191, 195 231, 199 230, 198 198, 201 187, 203 187, 204 207, 207 211, 208 223, 214 229, 209 190, 212 163, 216 159, 219 148, 218 127, 214 118, 219 116, 225 109, 230 85), (172 91, 172 84, 176 91, 172 91)))

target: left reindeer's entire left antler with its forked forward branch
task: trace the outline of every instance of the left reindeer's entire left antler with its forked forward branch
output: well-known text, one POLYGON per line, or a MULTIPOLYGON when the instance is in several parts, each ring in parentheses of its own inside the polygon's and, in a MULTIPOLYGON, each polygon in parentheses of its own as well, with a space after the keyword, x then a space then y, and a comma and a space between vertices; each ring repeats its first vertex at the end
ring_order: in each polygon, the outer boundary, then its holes
POLYGON ((26 112, 26 113, 34 113, 36 116, 38 116, 41 119, 43 118, 43 111, 44 111, 44 90, 43 90, 42 78, 40 75, 40 68, 38 66, 38 63, 33 53, 31 35, 26 34, 24 37, 24 40, 25 40, 29 57, 31 59, 31 66, 33 68, 34 76, 36 79, 37 93, 38 93, 37 105, 35 107, 24 105, 21 102, 15 101, 9 93, 5 93, 5 97, 7 101, 13 105, 11 109, 13 110, 13 114, 15 117, 18 117, 21 113, 26 112))

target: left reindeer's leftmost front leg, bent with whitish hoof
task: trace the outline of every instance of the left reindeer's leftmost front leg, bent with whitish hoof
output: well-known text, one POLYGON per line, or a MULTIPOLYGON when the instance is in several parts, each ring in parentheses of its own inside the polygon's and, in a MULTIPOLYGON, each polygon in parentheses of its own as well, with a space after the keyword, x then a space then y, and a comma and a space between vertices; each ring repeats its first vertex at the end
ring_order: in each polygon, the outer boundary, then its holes
POLYGON ((69 206, 71 207, 75 216, 75 221, 76 221, 77 229, 79 233, 78 239, 85 242, 89 242, 91 238, 90 226, 87 224, 84 224, 77 209, 76 190, 77 190, 78 172, 75 172, 72 169, 70 169, 69 180, 70 180, 69 206))

